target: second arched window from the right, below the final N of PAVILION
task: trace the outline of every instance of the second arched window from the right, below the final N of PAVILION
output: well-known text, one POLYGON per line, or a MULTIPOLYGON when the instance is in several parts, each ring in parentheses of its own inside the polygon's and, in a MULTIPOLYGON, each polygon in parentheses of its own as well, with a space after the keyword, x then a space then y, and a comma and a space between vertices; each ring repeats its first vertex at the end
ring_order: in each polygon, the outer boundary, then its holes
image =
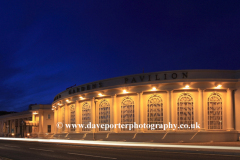
POLYGON ((187 124, 186 128, 184 127, 179 129, 193 129, 191 127, 191 124, 194 124, 193 98, 189 93, 183 93, 179 96, 177 114, 178 126, 181 124, 187 124))

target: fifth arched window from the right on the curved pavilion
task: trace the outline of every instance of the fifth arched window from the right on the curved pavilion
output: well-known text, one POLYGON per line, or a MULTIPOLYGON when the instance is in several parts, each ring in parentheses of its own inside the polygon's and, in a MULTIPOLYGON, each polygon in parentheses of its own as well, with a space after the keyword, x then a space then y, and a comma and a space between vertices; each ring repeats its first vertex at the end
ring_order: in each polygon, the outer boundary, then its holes
MULTIPOLYGON (((101 124, 110 125, 110 104, 107 100, 103 99, 99 104, 99 126, 101 124)), ((99 128, 99 131, 110 131, 110 128, 105 130, 105 128, 99 128)))

